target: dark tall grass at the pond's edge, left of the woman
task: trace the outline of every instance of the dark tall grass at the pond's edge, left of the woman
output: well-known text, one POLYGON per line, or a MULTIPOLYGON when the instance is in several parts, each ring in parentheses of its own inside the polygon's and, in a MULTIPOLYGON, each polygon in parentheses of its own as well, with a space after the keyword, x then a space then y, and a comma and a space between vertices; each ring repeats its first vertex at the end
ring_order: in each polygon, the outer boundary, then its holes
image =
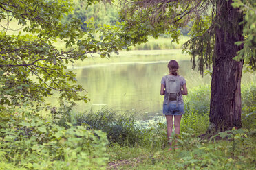
POLYGON ((62 117, 59 125, 71 122, 73 125, 85 125, 90 130, 101 130, 107 133, 111 143, 133 146, 142 141, 142 131, 136 125, 134 112, 122 113, 116 110, 74 112, 62 117))

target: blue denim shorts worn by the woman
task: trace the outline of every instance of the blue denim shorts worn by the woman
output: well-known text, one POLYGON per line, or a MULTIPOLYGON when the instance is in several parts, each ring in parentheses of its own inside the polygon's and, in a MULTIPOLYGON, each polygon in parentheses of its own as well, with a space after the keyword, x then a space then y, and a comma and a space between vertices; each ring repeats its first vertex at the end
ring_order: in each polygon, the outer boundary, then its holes
POLYGON ((164 104, 162 112, 164 115, 182 115, 185 113, 184 104, 164 104))

